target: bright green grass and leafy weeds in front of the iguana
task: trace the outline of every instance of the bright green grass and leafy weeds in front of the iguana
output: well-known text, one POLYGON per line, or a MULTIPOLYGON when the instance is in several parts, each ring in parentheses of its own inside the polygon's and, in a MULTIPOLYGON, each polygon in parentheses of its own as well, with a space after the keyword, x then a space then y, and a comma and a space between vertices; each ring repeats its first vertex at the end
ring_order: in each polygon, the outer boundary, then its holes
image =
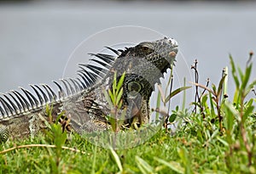
MULTIPOLYGON (((256 98, 247 98, 256 84, 256 80, 249 82, 251 59, 252 55, 243 72, 230 56, 236 83, 232 101, 224 98, 226 75, 218 86, 195 81, 197 90, 205 90, 197 91, 196 109, 176 107, 170 116, 157 112, 169 121, 135 148, 103 149, 77 134, 62 133, 61 126, 52 124, 48 132, 32 140, 2 143, 0 173, 256 173, 256 98), (168 128, 172 123, 177 123, 174 134, 168 128)), ((171 92, 159 93, 156 108, 177 90, 171 92)))

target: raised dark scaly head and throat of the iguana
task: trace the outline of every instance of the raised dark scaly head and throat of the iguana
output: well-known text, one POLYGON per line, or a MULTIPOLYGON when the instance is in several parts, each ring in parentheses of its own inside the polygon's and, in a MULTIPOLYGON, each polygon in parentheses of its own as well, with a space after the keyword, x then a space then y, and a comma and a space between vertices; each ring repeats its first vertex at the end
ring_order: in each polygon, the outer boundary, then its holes
MULTIPOLYGON (((175 61, 177 42, 165 37, 154 42, 141 42, 121 52, 110 74, 116 71, 121 76, 125 72, 123 100, 128 108, 127 115, 131 118, 139 111, 148 110, 143 107, 148 104, 154 84, 160 83, 160 77, 175 61)), ((108 78, 107 88, 111 88, 113 76, 108 78)))

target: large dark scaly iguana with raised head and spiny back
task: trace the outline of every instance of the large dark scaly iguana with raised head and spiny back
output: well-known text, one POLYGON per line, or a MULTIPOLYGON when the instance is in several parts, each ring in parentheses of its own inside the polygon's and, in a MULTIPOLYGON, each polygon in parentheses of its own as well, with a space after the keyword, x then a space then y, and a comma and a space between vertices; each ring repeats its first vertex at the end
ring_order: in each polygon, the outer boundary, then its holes
POLYGON ((154 42, 141 42, 135 47, 115 50, 116 55, 91 54, 95 64, 80 64, 76 79, 54 81, 58 95, 48 85, 31 85, 35 94, 20 88, 0 96, 0 142, 7 138, 35 136, 44 129, 46 104, 52 106, 54 120, 64 111, 65 119, 60 120, 67 129, 75 132, 94 132, 108 129, 106 115, 109 104, 104 90, 112 87, 113 74, 121 76, 125 72, 122 95, 123 106, 127 108, 125 124, 136 118, 139 124, 148 123, 148 100, 154 91, 154 84, 171 67, 177 54, 177 42, 163 38, 154 42), (62 84, 62 85, 61 85, 62 84))

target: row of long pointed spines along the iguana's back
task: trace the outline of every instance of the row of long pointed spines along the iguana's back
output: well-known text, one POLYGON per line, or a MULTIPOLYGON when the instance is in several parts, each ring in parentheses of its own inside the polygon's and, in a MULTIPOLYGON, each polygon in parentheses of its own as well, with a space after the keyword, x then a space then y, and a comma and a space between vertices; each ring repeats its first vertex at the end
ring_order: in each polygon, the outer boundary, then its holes
MULTIPOLYGON (((108 49, 113 51, 113 53, 120 53, 113 48, 108 49)), ((60 80, 65 87, 65 91, 62 89, 59 82, 53 81, 58 87, 58 95, 55 94, 54 90, 47 84, 29 85, 36 95, 23 87, 20 87, 20 90, 24 94, 15 90, 7 94, 2 93, 4 98, 0 96, 0 121, 11 116, 20 115, 29 110, 37 109, 51 102, 58 102, 61 99, 79 93, 94 85, 96 83, 96 76, 102 78, 106 75, 116 57, 104 53, 90 53, 90 55, 94 56, 94 58, 90 60, 96 62, 98 65, 79 64, 80 70, 78 70, 78 75, 80 78, 60 80)))

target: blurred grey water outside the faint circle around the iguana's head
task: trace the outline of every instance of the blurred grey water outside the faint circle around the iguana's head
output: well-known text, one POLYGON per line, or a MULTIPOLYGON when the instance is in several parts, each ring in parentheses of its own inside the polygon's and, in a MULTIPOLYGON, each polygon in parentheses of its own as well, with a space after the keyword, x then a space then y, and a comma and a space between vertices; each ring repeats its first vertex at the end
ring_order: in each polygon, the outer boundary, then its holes
MULTIPOLYGON (((119 25, 139 25, 174 37, 180 50, 178 84, 183 85, 183 76, 193 81, 190 65, 195 59, 201 83, 208 77, 218 83, 229 53, 244 67, 248 53, 256 52, 255 19, 254 1, 0 2, 0 92, 34 83, 54 86, 51 81, 62 77, 80 42, 119 25)), ((102 50, 102 43, 97 49, 102 50)), ((229 85, 233 93, 231 79, 229 85)))

